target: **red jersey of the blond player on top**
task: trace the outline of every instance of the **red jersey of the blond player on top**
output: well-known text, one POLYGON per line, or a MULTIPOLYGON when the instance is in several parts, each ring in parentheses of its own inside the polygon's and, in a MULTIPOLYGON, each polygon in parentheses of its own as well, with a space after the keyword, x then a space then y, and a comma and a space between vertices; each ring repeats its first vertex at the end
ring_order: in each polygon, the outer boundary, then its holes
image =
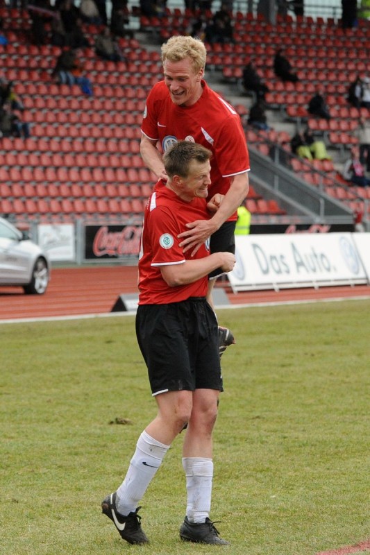
MULTIPOLYGON (((249 171, 249 153, 239 114, 204 80, 201 84, 203 94, 195 104, 178 106, 171 101, 165 81, 156 83, 146 99, 142 133, 159 141, 163 152, 180 140, 209 148, 213 153, 210 199, 227 193, 230 176, 249 171)), ((236 212, 230 219, 237 219, 236 212)))

